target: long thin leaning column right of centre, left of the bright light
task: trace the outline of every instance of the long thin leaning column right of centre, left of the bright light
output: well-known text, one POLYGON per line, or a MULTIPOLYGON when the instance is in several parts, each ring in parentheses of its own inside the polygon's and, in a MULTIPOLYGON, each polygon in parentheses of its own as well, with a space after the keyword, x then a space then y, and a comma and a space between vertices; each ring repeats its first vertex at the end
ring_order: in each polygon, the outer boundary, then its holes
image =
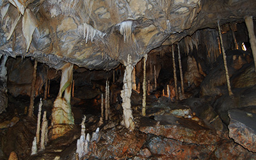
POLYGON ((225 49, 223 47, 223 41, 222 41, 221 30, 220 30, 220 22, 219 21, 218 21, 218 30, 219 30, 219 35, 220 35, 220 44, 221 44, 221 50, 222 50, 225 73, 226 73, 226 79, 227 79, 227 85, 228 85, 228 95, 233 95, 232 90, 231 90, 231 86, 230 86, 230 81, 229 81, 227 60, 226 60, 225 49))

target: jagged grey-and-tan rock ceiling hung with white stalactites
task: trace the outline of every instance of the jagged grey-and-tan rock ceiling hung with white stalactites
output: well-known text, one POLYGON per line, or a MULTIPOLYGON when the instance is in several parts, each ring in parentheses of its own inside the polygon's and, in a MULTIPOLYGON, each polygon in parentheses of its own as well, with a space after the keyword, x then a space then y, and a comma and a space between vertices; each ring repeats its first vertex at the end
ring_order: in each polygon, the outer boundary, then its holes
POLYGON ((1 54, 31 56, 50 67, 135 65, 217 21, 256 16, 255 0, 9 0, 1 3, 1 54), (10 38, 10 39, 9 39, 10 38), (28 52, 26 52, 28 50, 28 52))

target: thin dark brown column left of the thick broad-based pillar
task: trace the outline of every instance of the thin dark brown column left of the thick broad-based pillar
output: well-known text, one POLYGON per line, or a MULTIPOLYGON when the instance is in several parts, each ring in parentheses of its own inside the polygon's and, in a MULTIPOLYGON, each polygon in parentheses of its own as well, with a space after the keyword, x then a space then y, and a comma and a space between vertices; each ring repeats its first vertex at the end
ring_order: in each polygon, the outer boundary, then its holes
POLYGON ((33 79, 32 79, 32 83, 31 83, 30 104, 29 104, 29 108, 28 108, 28 116, 33 115, 34 98, 35 98, 35 84, 36 84, 36 68, 37 68, 37 61, 35 60, 34 69, 33 69, 33 79))

